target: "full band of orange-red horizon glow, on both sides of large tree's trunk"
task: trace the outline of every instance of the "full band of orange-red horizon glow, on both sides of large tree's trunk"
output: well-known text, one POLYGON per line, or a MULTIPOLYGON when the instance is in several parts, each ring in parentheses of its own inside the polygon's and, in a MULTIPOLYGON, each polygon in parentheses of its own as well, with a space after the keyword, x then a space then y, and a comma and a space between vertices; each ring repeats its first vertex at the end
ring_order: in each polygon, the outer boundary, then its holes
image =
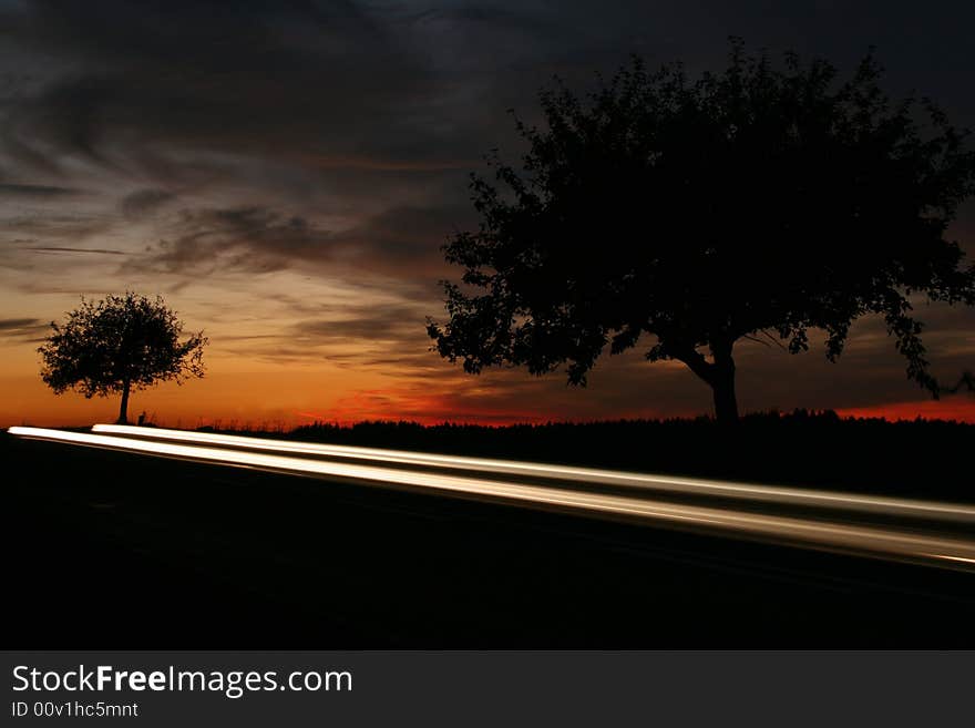
MULTIPOLYGON (((160 427, 226 429, 292 429, 315 422, 351 425, 363 421, 408 421, 423 425, 450 422, 505 427, 547 422, 591 422, 708 414, 706 402, 686 411, 640 407, 618 410, 601 406, 601 392, 571 392, 562 387, 512 394, 505 382, 445 376, 410 382, 368 371, 316 367, 235 370, 215 362, 202 381, 172 383, 133 393, 129 417, 145 411, 160 427), (562 391, 556 391, 562 390, 562 391)), ((234 362, 236 363, 236 362, 234 362)), ((558 382, 556 382, 558 383, 558 382)), ((0 375, 0 427, 83 427, 112 422, 119 398, 91 400, 69 392, 54 396, 35 375, 0 375)), ((618 404, 617 404, 618 407, 618 404)), ((782 411, 788 411, 783 408, 782 411)), ((837 408, 843 418, 954 420, 975 423, 975 398, 959 393, 942 400, 891 402, 837 408)))

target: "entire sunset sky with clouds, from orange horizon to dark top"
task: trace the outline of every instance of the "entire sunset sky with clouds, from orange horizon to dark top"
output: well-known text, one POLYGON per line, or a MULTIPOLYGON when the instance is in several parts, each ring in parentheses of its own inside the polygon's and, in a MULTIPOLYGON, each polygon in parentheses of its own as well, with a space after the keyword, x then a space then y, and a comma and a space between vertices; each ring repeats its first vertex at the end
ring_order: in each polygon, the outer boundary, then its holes
MULTIPOLYGON (((684 365, 644 361, 650 340, 586 389, 430 351, 438 280, 458 277, 441 246, 476 225, 469 174, 495 147, 516 158, 509 110, 531 120, 553 75, 584 89, 632 53, 719 70, 729 35, 845 70, 873 45, 892 94, 975 127, 975 6, 903 6, 0 0, 0 425, 114 419, 114 399, 48 390, 37 347, 81 296, 126 289, 211 339, 205 379, 133 396, 161 424, 707 413, 684 365)), ((950 235, 975 254, 975 204, 950 235)), ((975 367, 975 312, 917 314, 936 376, 975 367)), ((736 352, 743 410, 975 421, 975 398, 906 380, 875 320, 837 365, 736 352)))

